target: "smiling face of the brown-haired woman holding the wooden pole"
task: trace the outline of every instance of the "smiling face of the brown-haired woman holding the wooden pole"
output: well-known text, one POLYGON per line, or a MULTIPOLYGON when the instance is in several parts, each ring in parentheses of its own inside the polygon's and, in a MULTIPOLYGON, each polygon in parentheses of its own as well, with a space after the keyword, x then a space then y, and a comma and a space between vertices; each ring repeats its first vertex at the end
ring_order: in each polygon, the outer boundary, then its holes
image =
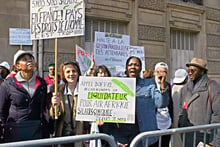
POLYGON ((64 70, 64 77, 68 83, 73 83, 77 81, 79 77, 79 73, 75 66, 73 66, 72 64, 67 64, 63 67, 63 70, 64 70))

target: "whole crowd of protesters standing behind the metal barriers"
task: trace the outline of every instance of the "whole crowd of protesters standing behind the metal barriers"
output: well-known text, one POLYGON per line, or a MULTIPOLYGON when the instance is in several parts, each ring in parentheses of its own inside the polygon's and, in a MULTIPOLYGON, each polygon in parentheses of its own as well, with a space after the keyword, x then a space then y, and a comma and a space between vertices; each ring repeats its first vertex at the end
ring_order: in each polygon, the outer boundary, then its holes
MULTIPOLYGON (((77 61, 63 62, 59 69, 58 90, 54 92, 54 63, 48 66, 49 75, 42 78, 35 70, 35 59, 30 51, 18 50, 15 53, 13 66, 16 67, 16 72, 10 71, 8 62, 2 62, 0 64, 2 79, 0 118, 3 124, 1 142, 89 134, 91 125, 97 125, 99 132, 113 136, 118 146, 129 146, 132 139, 141 132, 219 123, 219 84, 208 78, 206 61, 196 57, 186 63, 188 71, 177 69, 171 85, 166 79, 169 68, 165 62, 158 62, 155 65, 153 76, 145 77, 147 74, 145 72, 142 78, 141 59, 130 56, 125 64, 125 75, 120 78, 134 78, 136 81, 134 123, 76 120, 80 92, 79 78, 112 77, 107 66, 96 64, 92 55, 90 67, 82 75, 77 61)), ((203 139, 201 134, 197 134, 196 144, 203 139)), ((192 135, 186 134, 186 147, 192 146, 192 135)), ((217 146, 218 135, 216 135, 217 146)), ((212 140, 213 136, 210 132, 206 141, 211 145, 212 140)), ((169 147, 169 143, 170 136, 163 136, 162 146, 169 147)), ((176 146, 181 146, 181 136, 176 135, 174 143, 176 146)), ((100 144, 108 146, 104 141, 100 144)), ((145 140, 142 140, 138 147, 144 144, 145 140)), ((158 137, 151 137, 148 145, 158 147, 158 137)), ((88 146, 88 142, 82 142, 80 146, 88 146)))

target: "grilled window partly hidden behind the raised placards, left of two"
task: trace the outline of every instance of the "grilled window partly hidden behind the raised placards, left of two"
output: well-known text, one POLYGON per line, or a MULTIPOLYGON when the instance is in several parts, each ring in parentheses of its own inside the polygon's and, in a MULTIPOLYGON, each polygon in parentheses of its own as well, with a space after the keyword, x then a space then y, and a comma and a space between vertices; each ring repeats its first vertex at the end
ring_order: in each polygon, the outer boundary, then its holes
POLYGON ((85 49, 91 54, 94 49, 95 32, 127 34, 127 23, 111 20, 86 18, 85 49))

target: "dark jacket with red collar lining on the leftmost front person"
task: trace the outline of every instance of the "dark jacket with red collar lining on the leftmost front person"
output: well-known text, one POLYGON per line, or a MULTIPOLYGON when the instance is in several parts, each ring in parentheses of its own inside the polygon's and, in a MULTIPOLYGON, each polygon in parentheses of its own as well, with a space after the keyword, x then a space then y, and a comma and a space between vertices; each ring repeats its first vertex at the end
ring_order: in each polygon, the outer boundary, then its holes
POLYGON ((7 141, 11 142, 41 138, 42 130, 38 125, 41 125, 46 109, 47 85, 42 78, 36 76, 35 92, 31 97, 14 76, 0 86, 0 118, 7 127, 6 130, 11 130, 5 131, 6 139, 9 137, 7 141), (23 130, 28 127, 31 130, 39 129, 38 133, 29 134, 28 130, 23 130), (27 134, 24 131, 28 131, 27 134))

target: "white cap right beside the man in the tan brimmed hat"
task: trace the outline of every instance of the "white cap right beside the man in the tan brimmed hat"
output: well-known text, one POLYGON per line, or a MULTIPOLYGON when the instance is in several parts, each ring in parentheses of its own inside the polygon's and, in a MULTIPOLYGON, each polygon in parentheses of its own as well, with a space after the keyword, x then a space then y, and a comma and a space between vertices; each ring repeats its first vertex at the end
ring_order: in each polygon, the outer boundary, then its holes
POLYGON ((173 83, 180 84, 186 79, 187 76, 188 76, 188 73, 185 69, 178 69, 175 71, 173 83))

